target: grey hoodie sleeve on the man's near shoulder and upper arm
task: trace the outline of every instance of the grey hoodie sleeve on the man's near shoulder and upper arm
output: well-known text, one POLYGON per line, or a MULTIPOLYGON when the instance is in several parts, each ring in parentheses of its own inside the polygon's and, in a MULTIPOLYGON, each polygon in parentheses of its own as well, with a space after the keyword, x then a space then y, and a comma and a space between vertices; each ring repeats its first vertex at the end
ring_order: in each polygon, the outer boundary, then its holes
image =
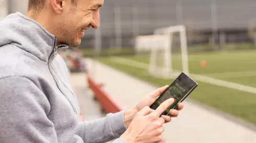
POLYGON ((26 77, 0 78, 0 142, 57 142, 50 103, 26 77))

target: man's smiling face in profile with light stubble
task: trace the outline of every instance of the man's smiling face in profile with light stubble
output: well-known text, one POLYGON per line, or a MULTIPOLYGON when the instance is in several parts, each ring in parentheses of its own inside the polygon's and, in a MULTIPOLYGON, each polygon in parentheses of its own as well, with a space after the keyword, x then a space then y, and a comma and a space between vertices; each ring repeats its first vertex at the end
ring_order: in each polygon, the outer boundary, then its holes
POLYGON ((71 0, 65 1, 63 12, 60 15, 60 35, 58 42, 77 47, 81 43, 81 38, 85 31, 92 27, 99 27, 99 8, 104 0, 77 0, 77 5, 71 0))

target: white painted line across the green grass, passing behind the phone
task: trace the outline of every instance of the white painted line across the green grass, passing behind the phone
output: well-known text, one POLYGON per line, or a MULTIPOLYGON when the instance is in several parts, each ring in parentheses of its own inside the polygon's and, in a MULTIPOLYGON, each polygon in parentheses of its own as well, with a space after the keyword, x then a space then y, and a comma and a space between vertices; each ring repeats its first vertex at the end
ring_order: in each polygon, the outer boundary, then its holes
MULTIPOLYGON (((134 60, 119 58, 119 57, 112 57, 111 60, 114 62, 120 63, 120 64, 126 64, 127 66, 132 66, 132 67, 141 68, 141 69, 145 69, 145 70, 148 69, 148 64, 143 63, 143 62, 137 62, 134 60)), ((240 90, 243 92, 256 94, 256 88, 254 88, 254 87, 237 84, 237 83, 232 83, 232 82, 227 82, 227 81, 223 81, 223 80, 217 80, 212 77, 207 77, 207 76, 203 76, 203 75, 190 74, 190 76, 196 81, 201 81, 204 83, 209 83, 209 84, 213 84, 213 85, 218 85, 218 86, 227 87, 227 88, 231 88, 231 89, 237 89, 237 90, 240 90)))

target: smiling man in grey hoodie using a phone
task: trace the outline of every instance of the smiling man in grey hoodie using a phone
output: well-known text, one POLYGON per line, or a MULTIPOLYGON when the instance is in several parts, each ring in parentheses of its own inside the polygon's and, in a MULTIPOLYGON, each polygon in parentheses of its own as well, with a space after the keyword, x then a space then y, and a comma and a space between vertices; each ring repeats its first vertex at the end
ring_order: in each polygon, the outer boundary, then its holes
MULTIPOLYGON (((103 0, 29 0, 28 14, 0 22, 0 142, 159 142, 170 116, 153 111, 167 86, 132 109, 79 122, 79 103, 59 51, 76 47, 99 27, 103 0)), ((179 105, 179 110, 183 106, 179 105)), ((177 116, 178 111, 170 111, 177 116)))

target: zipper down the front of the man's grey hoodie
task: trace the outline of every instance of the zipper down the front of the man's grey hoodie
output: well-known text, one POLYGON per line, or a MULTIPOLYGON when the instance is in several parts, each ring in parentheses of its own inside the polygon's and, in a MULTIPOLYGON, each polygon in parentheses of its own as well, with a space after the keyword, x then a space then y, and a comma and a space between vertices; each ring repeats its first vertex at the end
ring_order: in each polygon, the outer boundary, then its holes
POLYGON ((58 53, 57 53, 57 49, 58 49, 58 48, 62 48, 62 47, 67 47, 67 45, 61 44, 61 45, 58 45, 58 46, 57 46, 57 38, 55 38, 53 51, 52 51, 52 53, 51 53, 51 55, 50 55, 50 57, 49 57, 49 59, 48 59, 48 67, 49 67, 50 73, 52 74, 52 77, 53 77, 53 79, 54 79, 54 81, 55 81, 57 87, 59 88, 59 90, 61 91, 61 93, 66 97, 66 99, 68 100, 68 102, 69 102, 70 105, 72 106, 72 109, 73 109, 75 115, 77 116, 78 114, 77 114, 77 112, 76 112, 76 110, 75 110, 75 107, 73 106, 73 104, 72 104, 71 100, 68 98, 68 96, 62 91, 61 86, 60 86, 59 82, 57 81, 57 78, 55 77, 55 75, 53 74, 53 71, 52 71, 52 69, 51 69, 52 58, 57 56, 57 54, 58 54, 58 53))

